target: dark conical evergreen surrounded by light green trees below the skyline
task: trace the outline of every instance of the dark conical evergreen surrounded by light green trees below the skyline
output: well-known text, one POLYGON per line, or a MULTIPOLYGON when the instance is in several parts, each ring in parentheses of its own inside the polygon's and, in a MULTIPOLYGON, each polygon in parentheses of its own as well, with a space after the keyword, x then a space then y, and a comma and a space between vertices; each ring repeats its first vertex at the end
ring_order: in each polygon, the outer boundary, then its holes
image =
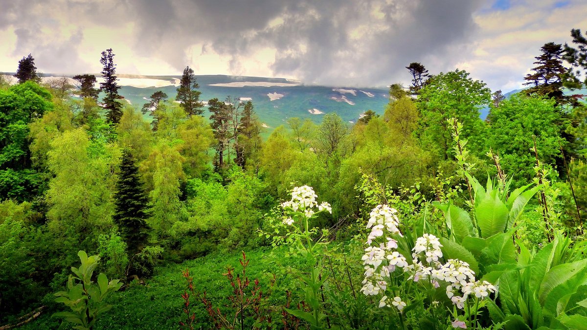
POLYGON ((139 167, 130 149, 123 150, 114 204, 116 205, 114 222, 118 225, 129 248, 129 254, 136 254, 147 243, 149 225, 146 219, 149 217, 147 214, 149 198, 141 184, 139 167))

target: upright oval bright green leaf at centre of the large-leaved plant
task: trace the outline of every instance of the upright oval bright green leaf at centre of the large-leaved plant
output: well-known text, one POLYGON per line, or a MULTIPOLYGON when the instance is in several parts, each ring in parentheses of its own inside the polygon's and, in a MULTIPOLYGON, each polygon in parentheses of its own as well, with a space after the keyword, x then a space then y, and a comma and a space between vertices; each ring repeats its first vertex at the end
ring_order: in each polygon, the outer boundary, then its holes
POLYGON ((498 191, 493 190, 485 196, 475 207, 477 225, 481 229, 481 237, 487 238, 498 233, 503 233, 508 221, 508 208, 497 196, 498 191))

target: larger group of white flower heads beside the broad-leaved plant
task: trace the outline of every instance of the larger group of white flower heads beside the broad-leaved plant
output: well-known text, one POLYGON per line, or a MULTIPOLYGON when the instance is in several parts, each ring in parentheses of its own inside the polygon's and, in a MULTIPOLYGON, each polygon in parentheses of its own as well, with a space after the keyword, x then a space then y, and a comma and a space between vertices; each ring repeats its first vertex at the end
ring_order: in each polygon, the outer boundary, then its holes
MULTIPOLYGON (((387 278, 396 268, 402 268, 404 272, 410 274, 410 280, 419 282, 421 280, 430 281, 435 287, 440 287, 441 283, 446 283, 446 294, 454 305, 458 308, 464 308, 468 297, 484 299, 490 292, 496 292, 497 288, 487 281, 475 281, 475 272, 471 270, 469 264, 458 259, 450 259, 445 264, 440 262, 443 257, 440 240, 434 235, 424 234, 417 238, 416 245, 412 249, 413 264, 407 264, 406 258, 398 251, 397 241, 387 237, 386 234, 397 234, 402 236, 397 226, 399 219, 397 211, 387 205, 380 205, 374 208, 370 213, 367 228, 371 228, 371 233, 367 238, 367 244, 370 246, 365 249, 362 257, 365 265, 365 280, 361 291, 365 295, 377 295, 384 292, 387 288, 387 278), (379 237, 384 237, 385 243, 375 241, 379 237), (375 243, 372 245, 372 243, 375 243), (424 261, 425 260, 425 261, 424 261), (462 295, 461 295, 462 294, 462 295)), ((390 307, 386 302, 387 296, 379 302, 379 307, 390 307)), ((392 305, 399 311, 406 306, 400 297, 394 298, 392 305)))

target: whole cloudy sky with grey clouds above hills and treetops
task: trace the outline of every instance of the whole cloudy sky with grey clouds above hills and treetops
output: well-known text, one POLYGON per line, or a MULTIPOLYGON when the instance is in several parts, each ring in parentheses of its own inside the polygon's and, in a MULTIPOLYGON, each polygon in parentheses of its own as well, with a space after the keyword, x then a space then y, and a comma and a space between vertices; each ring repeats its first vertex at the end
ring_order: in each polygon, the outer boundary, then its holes
POLYGON ((587 29, 585 0, 0 0, 0 72, 224 74, 331 86, 409 84, 404 68, 521 86, 546 42, 587 29))

